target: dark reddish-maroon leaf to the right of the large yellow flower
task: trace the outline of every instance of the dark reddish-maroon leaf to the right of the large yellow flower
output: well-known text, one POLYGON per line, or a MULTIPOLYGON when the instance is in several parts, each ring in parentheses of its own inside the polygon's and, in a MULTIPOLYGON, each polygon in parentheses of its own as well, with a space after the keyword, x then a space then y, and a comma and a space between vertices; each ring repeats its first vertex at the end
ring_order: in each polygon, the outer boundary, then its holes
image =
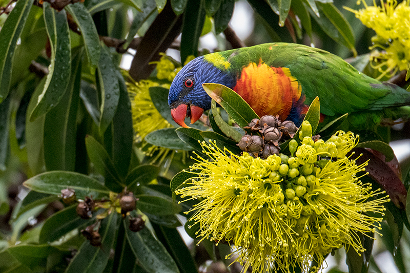
POLYGON ((357 164, 368 161, 365 167, 368 176, 377 181, 386 191, 392 202, 401 209, 405 208, 407 191, 396 173, 380 158, 364 148, 354 148, 352 158, 356 159, 357 164), (361 155, 362 156, 359 156, 361 155))

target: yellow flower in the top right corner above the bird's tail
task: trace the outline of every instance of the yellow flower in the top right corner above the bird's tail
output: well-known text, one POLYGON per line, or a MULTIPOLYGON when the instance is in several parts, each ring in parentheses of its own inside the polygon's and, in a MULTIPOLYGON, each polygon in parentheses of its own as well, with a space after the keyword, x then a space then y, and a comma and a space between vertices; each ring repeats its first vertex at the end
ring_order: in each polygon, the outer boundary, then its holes
MULTIPOLYGON (((382 78, 384 75, 392 76, 399 70, 407 70, 410 66, 410 7, 407 1, 397 4, 396 0, 387 0, 378 7, 367 6, 361 1, 364 9, 347 10, 354 12, 356 17, 368 28, 372 28, 377 36, 372 40, 376 47, 382 51, 374 51, 371 55, 373 68, 379 70, 382 78)), ((360 4, 360 1, 358 1, 360 4)))

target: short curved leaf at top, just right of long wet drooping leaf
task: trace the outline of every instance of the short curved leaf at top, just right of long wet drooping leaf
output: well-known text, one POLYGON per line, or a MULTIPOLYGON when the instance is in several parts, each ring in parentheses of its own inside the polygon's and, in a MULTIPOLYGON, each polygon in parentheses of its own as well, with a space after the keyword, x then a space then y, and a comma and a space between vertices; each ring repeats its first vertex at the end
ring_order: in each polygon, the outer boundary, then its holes
POLYGON ((68 5, 65 9, 73 16, 77 23, 81 36, 83 36, 84 44, 87 52, 88 61, 92 66, 96 66, 99 60, 100 45, 97 29, 93 18, 84 7, 83 3, 74 3, 68 5))

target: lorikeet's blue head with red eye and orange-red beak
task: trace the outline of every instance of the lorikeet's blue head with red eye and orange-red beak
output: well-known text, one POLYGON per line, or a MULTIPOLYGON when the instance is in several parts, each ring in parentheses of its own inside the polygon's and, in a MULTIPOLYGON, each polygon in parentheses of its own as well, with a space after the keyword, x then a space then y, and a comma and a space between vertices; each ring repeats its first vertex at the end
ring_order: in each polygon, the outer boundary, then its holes
POLYGON ((228 71, 215 67, 203 56, 184 66, 175 76, 168 95, 172 118, 182 127, 188 127, 185 117, 190 117, 192 124, 203 111, 211 108, 211 97, 203 90, 202 83, 220 83, 232 88, 235 79, 228 71))

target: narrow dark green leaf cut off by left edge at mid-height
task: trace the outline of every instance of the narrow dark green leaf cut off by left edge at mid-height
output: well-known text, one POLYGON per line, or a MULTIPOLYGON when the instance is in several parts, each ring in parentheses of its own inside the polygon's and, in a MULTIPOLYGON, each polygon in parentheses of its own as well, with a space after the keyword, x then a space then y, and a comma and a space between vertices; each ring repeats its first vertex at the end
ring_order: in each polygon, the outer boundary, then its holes
POLYGON ((9 159, 10 144, 9 144, 9 131, 10 131, 10 107, 11 98, 7 97, 0 103, 0 171, 5 171, 7 161, 9 159))

